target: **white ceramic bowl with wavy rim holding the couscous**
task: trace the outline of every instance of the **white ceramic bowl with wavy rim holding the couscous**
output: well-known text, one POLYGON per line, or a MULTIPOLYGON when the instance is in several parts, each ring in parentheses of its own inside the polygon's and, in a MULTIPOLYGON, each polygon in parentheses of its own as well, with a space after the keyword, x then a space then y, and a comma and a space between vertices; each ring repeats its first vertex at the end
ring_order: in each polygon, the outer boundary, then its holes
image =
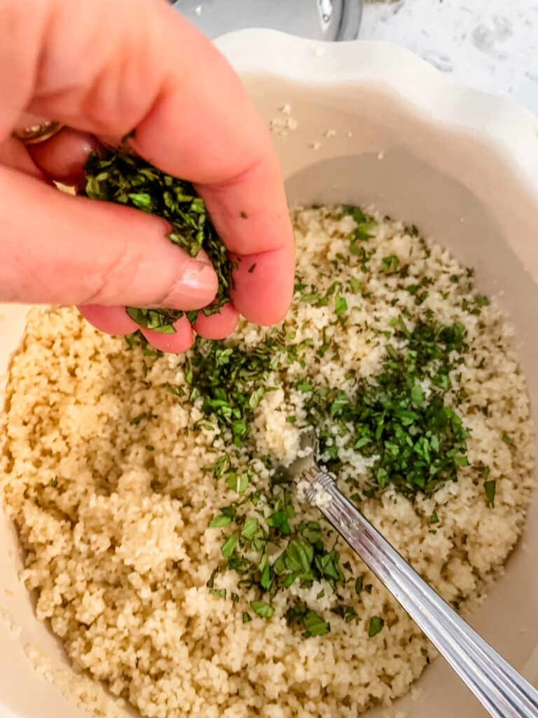
MULTIPOLYGON (((516 330, 536 421, 538 121, 511 101, 456 85, 392 45, 322 45, 269 31, 235 33, 219 45, 265 118, 274 121, 291 202, 377 205, 417 224, 476 267, 483 292, 502 290, 500 302, 516 330), (286 105, 289 114, 279 109, 286 105), (288 118, 297 126, 286 135, 282 125, 288 118)), ((5 370, 25 309, 3 307, 0 313, 5 370)), ((65 665, 17 580, 16 538, 1 516, 0 546, 0 612, 22 626, 16 636, 0 620, 0 718, 82 717, 34 673, 24 653, 25 644, 39 644, 65 665)), ((537 551, 534 500, 506 575, 471 618, 531 681, 538 678, 537 551)), ((417 701, 406 698, 397 705, 410 718, 484 715, 442 659, 425 672, 420 687, 425 692, 417 701)))

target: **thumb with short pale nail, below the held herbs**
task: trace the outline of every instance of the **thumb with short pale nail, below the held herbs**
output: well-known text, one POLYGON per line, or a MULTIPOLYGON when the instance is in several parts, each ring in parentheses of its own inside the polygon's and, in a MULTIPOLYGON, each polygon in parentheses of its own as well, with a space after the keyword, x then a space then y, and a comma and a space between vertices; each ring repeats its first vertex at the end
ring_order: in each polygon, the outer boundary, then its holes
POLYGON ((70 197, 0 167, 0 300, 200 309, 217 293, 209 258, 189 257, 164 220, 70 197))

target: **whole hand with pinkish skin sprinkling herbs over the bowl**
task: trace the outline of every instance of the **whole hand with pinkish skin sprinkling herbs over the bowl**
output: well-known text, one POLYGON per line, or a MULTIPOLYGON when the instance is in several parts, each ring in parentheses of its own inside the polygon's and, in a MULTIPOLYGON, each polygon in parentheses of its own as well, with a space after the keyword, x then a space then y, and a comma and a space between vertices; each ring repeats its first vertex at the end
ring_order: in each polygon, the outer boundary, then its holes
POLYGON ((164 0, 0 0, 0 18, 0 301, 74 304, 115 335, 138 328, 126 305, 212 302, 207 256, 174 246, 163 220, 52 185, 80 182, 95 146, 135 130, 133 148, 194 182, 241 259, 232 304, 194 329, 182 317, 173 335, 143 330, 147 339, 180 353, 195 332, 230 335, 240 314, 280 322, 294 274, 280 168, 263 119, 213 45, 164 0), (11 136, 43 118, 70 129, 33 146, 11 136))

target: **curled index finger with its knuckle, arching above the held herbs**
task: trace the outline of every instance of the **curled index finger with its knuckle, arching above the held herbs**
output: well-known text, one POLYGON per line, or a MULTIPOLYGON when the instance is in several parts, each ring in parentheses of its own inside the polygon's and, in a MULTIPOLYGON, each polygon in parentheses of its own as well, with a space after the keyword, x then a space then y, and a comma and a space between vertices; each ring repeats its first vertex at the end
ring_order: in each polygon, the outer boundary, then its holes
POLYGON ((280 321, 293 294, 283 181, 269 131, 220 52, 161 0, 1 4, 8 14, 24 14, 26 32, 28 24, 42 28, 31 33, 32 62, 27 43, 16 33, 7 39, 11 67, 22 78, 19 96, 33 90, 19 111, 98 135, 134 129, 134 148, 194 182, 227 247, 246 257, 235 273, 240 312, 255 322, 280 321))

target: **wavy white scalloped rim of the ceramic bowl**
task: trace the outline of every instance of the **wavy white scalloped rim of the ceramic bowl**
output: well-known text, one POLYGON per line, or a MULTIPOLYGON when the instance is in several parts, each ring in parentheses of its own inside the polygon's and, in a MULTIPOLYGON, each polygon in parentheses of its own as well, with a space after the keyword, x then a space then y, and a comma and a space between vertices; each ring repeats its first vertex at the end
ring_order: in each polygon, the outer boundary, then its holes
POLYGON ((324 42, 271 29, 237 30, 214 42, 244 78, 259 74, 320 88, 376 85, 445 131, 473 134, 538 200, 538 118, 512 98, 468 87, 392 42, 324 42))

